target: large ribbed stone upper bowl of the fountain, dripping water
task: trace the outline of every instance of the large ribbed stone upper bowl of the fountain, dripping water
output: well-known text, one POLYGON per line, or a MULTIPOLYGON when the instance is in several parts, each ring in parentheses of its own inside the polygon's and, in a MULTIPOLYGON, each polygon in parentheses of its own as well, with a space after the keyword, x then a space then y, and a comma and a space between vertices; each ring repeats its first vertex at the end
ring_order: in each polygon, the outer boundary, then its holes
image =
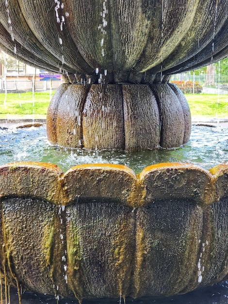
POLYGON ((3 51, 91 83, 154 82, 228 55, 228 0, 0 0, 0 7, 3 51))

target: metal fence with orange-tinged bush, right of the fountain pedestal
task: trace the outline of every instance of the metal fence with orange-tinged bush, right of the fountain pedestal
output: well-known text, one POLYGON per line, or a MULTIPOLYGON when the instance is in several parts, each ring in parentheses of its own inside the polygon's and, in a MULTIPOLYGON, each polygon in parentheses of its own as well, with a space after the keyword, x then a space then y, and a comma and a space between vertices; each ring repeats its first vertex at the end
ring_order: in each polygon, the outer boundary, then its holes
POLYGON ((228 75, 182 73, 173 75, 170 82, 183 93, 228 94, 228 75))

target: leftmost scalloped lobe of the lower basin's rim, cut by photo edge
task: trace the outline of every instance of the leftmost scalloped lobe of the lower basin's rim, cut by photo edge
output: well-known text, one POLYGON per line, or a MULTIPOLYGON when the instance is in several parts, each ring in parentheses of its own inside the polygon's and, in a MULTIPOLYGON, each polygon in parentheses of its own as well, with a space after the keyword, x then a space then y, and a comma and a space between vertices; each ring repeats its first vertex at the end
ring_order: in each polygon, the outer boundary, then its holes
POLYGON ((41 197, 52 203, 61 198, 60 176, 54 164, 19 162, 0 166, 0 196, 41 197))

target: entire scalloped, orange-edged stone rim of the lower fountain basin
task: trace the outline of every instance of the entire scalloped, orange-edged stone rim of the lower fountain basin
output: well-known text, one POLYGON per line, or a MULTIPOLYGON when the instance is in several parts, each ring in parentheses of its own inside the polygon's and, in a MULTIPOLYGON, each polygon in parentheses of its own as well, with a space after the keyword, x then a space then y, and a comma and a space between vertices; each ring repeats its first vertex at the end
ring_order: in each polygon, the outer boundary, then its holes
POLYGON ((0 198, 31 197, 57 205, 85 200, 140 207, 154 201, 208 204, 228 196, 228 163, 209 171, 187 163, 160 163, 135 174, 116 164, 83 164, 64 173, 58 166, 15 162, 0 166, 0 198))

